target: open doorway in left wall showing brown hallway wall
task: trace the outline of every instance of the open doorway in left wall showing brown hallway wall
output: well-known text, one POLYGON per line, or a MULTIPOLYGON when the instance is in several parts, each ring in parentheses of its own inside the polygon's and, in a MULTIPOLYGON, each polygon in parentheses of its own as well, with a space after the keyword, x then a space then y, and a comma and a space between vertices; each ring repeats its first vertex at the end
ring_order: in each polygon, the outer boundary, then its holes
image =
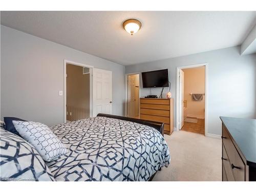
POLYGON ((71 61, 64 65, 64 121, 92 117, 92 67, 71 61))

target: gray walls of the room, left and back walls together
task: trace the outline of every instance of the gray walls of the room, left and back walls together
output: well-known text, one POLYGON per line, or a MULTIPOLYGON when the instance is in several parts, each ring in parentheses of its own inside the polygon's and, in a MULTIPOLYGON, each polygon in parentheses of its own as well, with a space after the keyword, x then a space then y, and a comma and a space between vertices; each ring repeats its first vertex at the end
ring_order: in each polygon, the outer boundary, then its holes
MULTIPOLYGON (((84 42, 86 43, 86 42, 84 42)), ((113 72, 113 114, 123 115, 124 73, 169 70, 176 96, 176 67, 208 63, 208 132, 221 134, 219 116, 256 117, 256 55, 240 47, 141 63, 117 63, 1 26, 1 118, 17 116, 53 125, 63 122, 63 59, 113 72)), ((142 87, 142 86, 141 86, 142 87)), ((152 89, 159 95, 161 89, 152 89)), ((165 88, 164 95, 167 92, 165 88)), ((150 94, 142 89, 141 96, 150 94)), ((176 125, 175 125, 176 126, 176 125)))

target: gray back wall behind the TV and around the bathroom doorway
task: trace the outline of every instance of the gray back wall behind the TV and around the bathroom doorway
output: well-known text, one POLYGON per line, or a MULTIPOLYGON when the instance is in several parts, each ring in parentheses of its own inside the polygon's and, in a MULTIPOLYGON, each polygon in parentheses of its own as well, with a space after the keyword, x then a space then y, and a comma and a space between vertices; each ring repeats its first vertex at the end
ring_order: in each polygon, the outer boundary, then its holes
MULTIPOLYGON (((241 56, 240 47, 127 66, 125 73, 168 69, 176 102, 176 68, 204 62, 208 63, 208 133, 221 135, 220 116, 255 118, 256 55, 241 56)), ((152 94, 159 96, 160 91, 152 89, 152 94)), ((140 96, 149 94, 149 89, 142 89, 140 96)))

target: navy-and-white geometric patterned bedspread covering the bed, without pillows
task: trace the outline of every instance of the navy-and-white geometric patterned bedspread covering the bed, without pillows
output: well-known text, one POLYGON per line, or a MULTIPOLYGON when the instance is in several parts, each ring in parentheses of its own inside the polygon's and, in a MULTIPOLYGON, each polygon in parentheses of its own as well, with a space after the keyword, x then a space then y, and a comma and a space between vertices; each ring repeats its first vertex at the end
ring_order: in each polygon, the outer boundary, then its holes
POLYGON ((150 126, 94 117, 50 128, 69 148, 47 163, 57 181, 147 181, 170 163, 164 138, 150 126))

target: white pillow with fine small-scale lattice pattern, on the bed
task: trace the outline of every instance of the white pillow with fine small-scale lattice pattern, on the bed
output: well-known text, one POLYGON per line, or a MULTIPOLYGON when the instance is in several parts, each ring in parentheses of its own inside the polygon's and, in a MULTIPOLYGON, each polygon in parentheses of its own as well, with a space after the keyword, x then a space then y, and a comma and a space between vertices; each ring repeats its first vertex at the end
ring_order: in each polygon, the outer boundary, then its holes
POLYGON ((32 144, 45 161, 55 160, 67 153, 67 148, 47 125, 33 121, 12 122, 19 135, 32 144))

